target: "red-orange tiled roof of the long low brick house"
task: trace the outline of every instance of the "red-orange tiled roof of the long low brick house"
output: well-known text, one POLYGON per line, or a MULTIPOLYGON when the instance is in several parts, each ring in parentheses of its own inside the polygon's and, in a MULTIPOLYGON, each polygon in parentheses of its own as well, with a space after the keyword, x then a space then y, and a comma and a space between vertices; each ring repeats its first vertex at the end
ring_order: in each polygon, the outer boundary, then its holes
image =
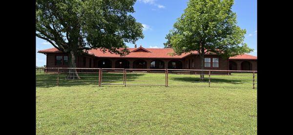
MULTIPOLYGON (((188 55, 191 54, 198 54, 197 51, 192 51, 191 53, 185 53, 180 56, 175 55, 171 56, 170 53, 173 53, 172 48, 128 48, 129 54, 126 56, 120 56, 117 54, 111 54, 109 52, 103 52, 100 49, 91 49, 88 50, 88 54, 94 55, 99 58, 185 58, 188 55), (141 50, 141 51, 140 51, 141 50)), ((57 48, 50 48, 50 49, 45 49, 45 50, 40 50, 38 51, 39 53, 62 53, 62 51, 59 51, 57 48)), ((257 59, 255 56, 251 55, 240 55, 240 56, 235 56, 231 57, 229 59, 257 59)))

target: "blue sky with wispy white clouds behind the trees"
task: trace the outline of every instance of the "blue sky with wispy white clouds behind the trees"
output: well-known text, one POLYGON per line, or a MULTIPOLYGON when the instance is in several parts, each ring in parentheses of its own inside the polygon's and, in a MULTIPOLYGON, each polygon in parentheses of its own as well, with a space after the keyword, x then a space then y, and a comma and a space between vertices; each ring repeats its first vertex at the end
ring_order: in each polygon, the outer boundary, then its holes
MULTIPOLYGON (((146 48, 163 48, 166 35, 172 29, 174 22, 187 7, 188 0, 137 0, 134 5, 133 16, 144 26, 144 39, 136 44, 146 48)), ((235 0, 232 7, 237 15, 237 24, 246 29, 245 42, 254 49, 250 53, 257 56, 257 1, 235 0)), ((126 43, 128 47, 134 44, 126 43)), ((47 41, 36 37, 36 51, 52 48, 47 41)), ((46 64, 46 56, 36 52, 37 66, 46 64)))

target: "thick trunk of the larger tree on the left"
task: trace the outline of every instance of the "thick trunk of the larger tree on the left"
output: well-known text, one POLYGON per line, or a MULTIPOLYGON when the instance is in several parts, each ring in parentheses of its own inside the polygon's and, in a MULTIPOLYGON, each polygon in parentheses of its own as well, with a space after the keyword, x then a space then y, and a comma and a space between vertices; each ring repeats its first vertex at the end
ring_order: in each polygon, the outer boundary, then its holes
MULTIPOLYGON (((76 68, 76 56, 77 56, 76 52, 70 51, 68 55, 69 68, 76 68)), ((80 79, 76 69, 69 69, 68 71, 69 72, 67 74, 66 79, 80 79)))

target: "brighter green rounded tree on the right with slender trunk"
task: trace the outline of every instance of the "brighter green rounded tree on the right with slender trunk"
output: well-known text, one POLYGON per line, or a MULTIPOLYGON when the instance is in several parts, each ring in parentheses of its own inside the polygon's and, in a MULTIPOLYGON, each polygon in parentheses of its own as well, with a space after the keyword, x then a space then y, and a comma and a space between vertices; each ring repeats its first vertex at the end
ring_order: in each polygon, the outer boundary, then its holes
POLYGON ((203 70, 207 53, 229 58, 253 51, 243 42, 246 30, 237 26, 236 14, 231 10, 233 3, 234 0, 189 0, 170 32, 175 54, 197 51, 203 70))

